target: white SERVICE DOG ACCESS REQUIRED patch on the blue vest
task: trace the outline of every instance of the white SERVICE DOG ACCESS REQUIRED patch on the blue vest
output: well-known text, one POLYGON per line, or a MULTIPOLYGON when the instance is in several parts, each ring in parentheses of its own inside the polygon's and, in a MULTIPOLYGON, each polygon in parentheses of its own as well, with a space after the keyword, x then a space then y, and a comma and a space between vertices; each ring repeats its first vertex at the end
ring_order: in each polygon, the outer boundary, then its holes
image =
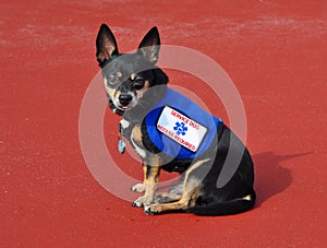
POLYGON ((207 128, 165 106, 157 121, 157 129, 184 147, 196 152, 206 135, 207 128))

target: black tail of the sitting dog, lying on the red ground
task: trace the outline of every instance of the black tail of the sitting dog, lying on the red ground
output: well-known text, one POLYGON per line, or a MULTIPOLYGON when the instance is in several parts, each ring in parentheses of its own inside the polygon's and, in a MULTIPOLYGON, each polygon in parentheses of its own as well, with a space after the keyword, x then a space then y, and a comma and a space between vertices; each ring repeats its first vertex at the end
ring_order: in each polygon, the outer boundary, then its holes
POLYGON ((230 215, 238 214, 251 210, 255 203, 255 192, 254 190, 243 197, 233 199, 230 201, 221 202, 210 202, 206 205, 196 205, 194 208, 187 209, 187 212, 194 213, 196 215, 203 216, 220 216, 220 215, 230 215))

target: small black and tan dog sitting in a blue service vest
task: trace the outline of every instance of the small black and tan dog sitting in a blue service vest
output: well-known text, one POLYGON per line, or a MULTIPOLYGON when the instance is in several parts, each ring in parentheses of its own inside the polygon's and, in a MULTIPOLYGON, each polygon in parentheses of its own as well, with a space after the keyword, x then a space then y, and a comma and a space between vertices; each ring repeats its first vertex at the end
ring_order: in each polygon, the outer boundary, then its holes
POLYGON ((142 160, 144 181, 131 189, 144 194, 132 205, 149 215, 182 211, 216 216, 251 210, 256 194, 247 149, 222 120, 167 86, 167 74, 156 66, 159 50, 156 26, 135 52, 120 54, 106 24, 96 38, 109 107, 122 116, 119 132, 142 160), (218 186, 225 166, 234 173, 218 186), (156 193, 160 169, 181 174, 169 192, 156 193))

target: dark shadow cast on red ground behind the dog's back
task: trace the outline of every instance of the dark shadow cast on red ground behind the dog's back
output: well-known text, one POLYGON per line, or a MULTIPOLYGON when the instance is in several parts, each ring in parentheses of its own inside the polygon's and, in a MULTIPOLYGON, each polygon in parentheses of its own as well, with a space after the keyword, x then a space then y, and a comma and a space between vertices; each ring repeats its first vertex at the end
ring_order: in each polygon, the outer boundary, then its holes
POLYGON ((259 206, 270 197, 282 192, 292 184, 291 169, 282 167, 280 164, 306 154, 308 153, 277 155, 274 152, 265 152, 253 156, 256 173, 256 206, 259 206))

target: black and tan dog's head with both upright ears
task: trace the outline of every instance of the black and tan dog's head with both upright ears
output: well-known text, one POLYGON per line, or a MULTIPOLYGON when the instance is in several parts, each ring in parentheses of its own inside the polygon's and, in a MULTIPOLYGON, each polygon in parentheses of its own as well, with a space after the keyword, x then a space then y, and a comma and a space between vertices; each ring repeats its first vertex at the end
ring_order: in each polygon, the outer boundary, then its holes
POLYGON ((118 113, 134 108, 149 87, 168 82, 166 74, 155 66, 160 49, 157 27, 145 35, 136 52, 120 54, 112 32, 102 24, 96 49, 111 108, 118 113))

